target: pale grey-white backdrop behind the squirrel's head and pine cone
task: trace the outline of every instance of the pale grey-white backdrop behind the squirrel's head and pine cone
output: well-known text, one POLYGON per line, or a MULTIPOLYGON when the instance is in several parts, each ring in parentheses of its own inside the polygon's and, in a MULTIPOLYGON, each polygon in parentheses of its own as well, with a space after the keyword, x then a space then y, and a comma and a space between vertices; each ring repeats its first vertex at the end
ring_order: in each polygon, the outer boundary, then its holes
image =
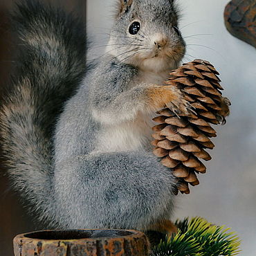
MULTIPOLYGON (((115 1, 87 1, 88 32, 95 37, 94 46, 107 43, 104 33, 109 32, 115 1)), ((187 37, 187 53, 210 61, 221 73, 224 95, 232 101, 232 112, 227 125, 217 128, 216 147, 210 152, 213 159, 207 163, 208 173, 199 177, 201 185, 192 188, 190 195, 177 197, 175 218, 201 216, 226 224, 243 240, 240 255, 253 256, 256 255, 256 51, 227 32, 223 10, 228 1, 179 0, 179 3, 183 10, 180 28, 183 37, 187 37)))

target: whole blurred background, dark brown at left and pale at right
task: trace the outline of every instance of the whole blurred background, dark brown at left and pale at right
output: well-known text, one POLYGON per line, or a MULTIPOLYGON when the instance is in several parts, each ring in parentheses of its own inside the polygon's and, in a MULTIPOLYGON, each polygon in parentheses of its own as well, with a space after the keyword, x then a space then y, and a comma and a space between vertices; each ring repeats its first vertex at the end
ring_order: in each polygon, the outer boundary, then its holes
MULTIPOLYGON (((46 0, 44 0, 46 1, 46 0)), ((100 55, 107 44, 113 4, 116 0, 48 0, 74 10, 87 21, 93 38, 91 54, 100 55), (85 19, 86 17, 86 19, 85 19), (99 49, 102 49, 100 51, 99 49)), ((15 1, 0 1, 0 93, 8 84, 15 62, 15 38, 6 18, 15 1)), ((188 44, 183 62, 208 60, 221 73, 224 95, 232 102, 227 125, 217 127, 216 147, 207 163, 208 173, 190 195, 176 199, 174 219, 201 216, 232 228, 242 239, 240 255, 256 255, 256 51, 232 37, 223 22, 228 0, 178 0, 182 10, 179 28, 188 44)), ((0 178, 0 255, 12 255, 12 238, 40 228, 21 208, 19 196, 0 178)))

